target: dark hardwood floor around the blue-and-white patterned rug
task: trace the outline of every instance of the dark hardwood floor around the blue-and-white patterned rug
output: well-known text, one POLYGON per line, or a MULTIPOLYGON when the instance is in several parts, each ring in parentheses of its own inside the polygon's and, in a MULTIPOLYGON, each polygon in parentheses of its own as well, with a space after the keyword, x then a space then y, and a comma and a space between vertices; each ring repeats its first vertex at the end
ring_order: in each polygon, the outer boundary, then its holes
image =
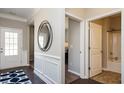
POLYGON ((11 68, 11 69, 0 70, 0 73, 7 72, 7 71, 12 71, 12 70, 19 70, 19 69, 23 69, 23 71, 26 73, 26 75, 31 80, 32 84, 46 84, 36 74, 34 74, 33 68, 30 67, 30 66, 16 67, 16 68, 11 68))

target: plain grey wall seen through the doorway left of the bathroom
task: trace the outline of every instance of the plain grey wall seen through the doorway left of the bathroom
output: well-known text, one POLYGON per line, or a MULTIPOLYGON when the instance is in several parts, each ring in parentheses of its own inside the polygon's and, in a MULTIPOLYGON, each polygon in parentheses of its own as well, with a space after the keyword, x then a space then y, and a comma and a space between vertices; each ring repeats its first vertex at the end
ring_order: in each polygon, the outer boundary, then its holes
POLYGON ((68 69, 80 74, 80 22, 69 19, 68 69))

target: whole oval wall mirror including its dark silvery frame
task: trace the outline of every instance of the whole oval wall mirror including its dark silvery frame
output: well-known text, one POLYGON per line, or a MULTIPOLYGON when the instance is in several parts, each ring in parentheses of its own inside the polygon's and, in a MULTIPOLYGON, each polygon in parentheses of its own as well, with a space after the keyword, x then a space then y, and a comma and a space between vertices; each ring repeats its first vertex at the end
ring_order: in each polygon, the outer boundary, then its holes
POLYGON ((38 45, 42 51, 47 51, 53 39, 52 28, 48 21, 41 22, 38 29, 38 45))

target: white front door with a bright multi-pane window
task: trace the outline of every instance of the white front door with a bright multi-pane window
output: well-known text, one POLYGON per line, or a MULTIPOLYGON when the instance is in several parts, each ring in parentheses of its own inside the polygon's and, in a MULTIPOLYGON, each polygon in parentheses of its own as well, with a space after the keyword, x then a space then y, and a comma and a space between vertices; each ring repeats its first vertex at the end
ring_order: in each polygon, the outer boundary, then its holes
POLYGON ((0 69, 21 65, 22 30, 0 28, 0 69))

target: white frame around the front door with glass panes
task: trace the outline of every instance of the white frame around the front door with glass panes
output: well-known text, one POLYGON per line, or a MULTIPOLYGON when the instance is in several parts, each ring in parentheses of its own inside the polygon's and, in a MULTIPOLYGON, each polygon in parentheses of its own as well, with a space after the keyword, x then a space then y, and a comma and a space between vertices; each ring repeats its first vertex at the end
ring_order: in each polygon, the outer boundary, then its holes
MULTIPOLYGON (((22 46, 23 46, 23 29, 19 29, 19 28, 13 28, 13 27, 3 27, 3 26, 0 26, 0 35, 1 35, 1 29, 15 29, 15 30, 20 30, 21 31, 21 41, 20 41, 20 45, 21 45, 21 53, 20 53, 20 66, 23 66, 23 49, 22 49, 22 46)), ((1 47, 1 41, 0 41, 0 47, 1 47)), ((17 66, 18 67, 18 66, 17 66)), ((7 68, 8 69, 8 68, 7 68)), ((0 70, 1 70, 1 56, 0 56, 0 70)))

